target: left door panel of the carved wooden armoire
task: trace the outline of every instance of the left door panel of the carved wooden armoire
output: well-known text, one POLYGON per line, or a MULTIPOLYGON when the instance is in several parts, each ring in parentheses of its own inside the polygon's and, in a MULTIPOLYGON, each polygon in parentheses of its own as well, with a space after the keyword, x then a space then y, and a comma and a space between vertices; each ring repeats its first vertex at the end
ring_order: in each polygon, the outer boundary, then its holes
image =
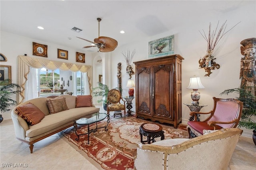
POLYGON ((138 72, 138 112, 150 113, 150 68, 140 68, 138 72))

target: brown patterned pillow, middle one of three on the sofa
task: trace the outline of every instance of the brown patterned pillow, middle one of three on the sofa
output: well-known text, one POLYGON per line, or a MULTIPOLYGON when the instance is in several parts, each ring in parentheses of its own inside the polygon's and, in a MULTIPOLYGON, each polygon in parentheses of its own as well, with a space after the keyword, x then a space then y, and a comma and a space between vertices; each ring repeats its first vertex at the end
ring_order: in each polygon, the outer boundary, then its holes
POLYGON ((46 103, 48 105, 50 114, 68 110, 68 106, 66 104, 66 98, 47 99, 46 103))

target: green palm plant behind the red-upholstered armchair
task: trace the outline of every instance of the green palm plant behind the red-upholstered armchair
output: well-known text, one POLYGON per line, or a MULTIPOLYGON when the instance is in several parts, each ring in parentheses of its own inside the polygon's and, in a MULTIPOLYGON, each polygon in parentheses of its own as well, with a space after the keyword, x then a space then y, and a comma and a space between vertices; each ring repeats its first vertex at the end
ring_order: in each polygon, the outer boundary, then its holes
MULTIPOLYGON (((251 89, 250 87, 248 87, 251 89)), ((238 127, 245 127, 246 129, 253 129, 252 140, 256 145, 256 96, 252 94, 249 90, 243 88, 233 88, 228 89, 222 92, 222 94, 230 94, 230 93, 238 93, 240 96, 237 100, 240 100, 244 104, 244 108, 242 110, 241 120, 238 123, 238 127)))

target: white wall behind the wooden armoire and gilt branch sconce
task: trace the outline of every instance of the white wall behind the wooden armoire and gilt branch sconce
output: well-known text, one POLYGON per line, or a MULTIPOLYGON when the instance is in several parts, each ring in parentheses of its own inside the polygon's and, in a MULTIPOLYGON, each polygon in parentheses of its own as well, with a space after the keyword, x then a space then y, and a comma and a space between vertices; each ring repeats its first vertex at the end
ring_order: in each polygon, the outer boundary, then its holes
MULTIPOLYGON (((201 93, 200 102, 208 105, 201 109, 202 112, 208 112, 212 109, 212 97, 235 98, 237 94, 220 96, 220 93, 228 88, 240 86, 240 59, 243 57, 240 53, 240 42, 247 38, 256 37, 255 11, 255 2, 243 1, 240 8, 231 12, 223 12, 222 14, 215 15, 209 18, 209 20, 203 20, 201 23, 186 25, 186 27, 179 27, 154 37, 148 37, 148 39, 134 40, 133 43, 117 47, 117 49, 112 52, 111 87, 114 88, 117 86, 117 64, 120 62, 122 63, 122 88, 124 90, 122 94, 123 96, 128 96, 126 83, 129 77, 126 74, 126 63, 121 53, 122 51, 126 52, 127 49, 130 49, 130 51, 136 49, 132 62, 146 60, 148 59, 149 41, 168 35, 175 35, 175 54, 184 57, 184 61, 182 61, 182 103, 191 101, 190 92, 192 92, 192 90, 186 89, 186 87, 189 84, 190 77, 194 75, 200 77, 205 87, 204 89, 198 90, 201 93), (218 53, 214 55, 214 57, 216 57, 215 61, 220 64, 220 68, 218 70, 212 70, 210 76, 204 76, 206 72, 204 69, 199 69, 198 61, 206 54, 207 42, 203 39, 198 30, 202 31, 202 29, 204 29, 204 31, 208 33, 209 23, 212 23, 213 30, 218 20, 220 21, 220 25, 227 20, 228 25, 226 30, 240 21, 241 23, 226 33, 221 39, 219 46, 215 49, 215 51, 218 51, 218 53)), ((134 64, 132 64, 132 67, 135 71, 134 64)), ((132 79, 135 79, 135 76, 132 76, 132 79)), ((133 102, 135 104, 135 101, 133 102)), ((182 104, 182 123, 186 124, 188 121, 190 117, 189 112, 189 108, 182 104)), ((245 129, 243 134, 246 132, 252 134, 252 130, 245 129)))

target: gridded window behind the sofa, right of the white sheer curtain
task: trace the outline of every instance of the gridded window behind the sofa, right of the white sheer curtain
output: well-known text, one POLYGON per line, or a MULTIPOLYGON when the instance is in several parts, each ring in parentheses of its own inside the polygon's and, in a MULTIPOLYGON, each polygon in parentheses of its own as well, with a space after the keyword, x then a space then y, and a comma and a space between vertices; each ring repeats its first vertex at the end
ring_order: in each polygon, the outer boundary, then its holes
POLYGON ((39 92, 40 97, 46 97, 50 95, 59 95, 60 92, 60 70, 49 70, 46 68, 39 69, 39 92))

